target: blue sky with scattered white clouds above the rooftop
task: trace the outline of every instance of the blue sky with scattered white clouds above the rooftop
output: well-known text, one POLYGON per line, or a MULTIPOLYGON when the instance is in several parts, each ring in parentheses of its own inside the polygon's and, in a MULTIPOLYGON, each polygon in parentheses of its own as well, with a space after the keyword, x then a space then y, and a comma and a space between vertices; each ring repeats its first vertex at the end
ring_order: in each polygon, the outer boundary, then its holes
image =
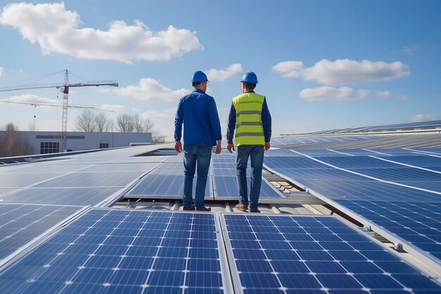
MULTIPOLYGON (((258 75, 273 137, 430 121, 441 119, 440 15, 437 0, 0 1, 0 87, 63 82, 64 69, 117 80, 71 88, 69 104, 139 114, 170 140, 196 70, 209 75, 224 136, 246 71, 258 75)), ((61 98, 55 88, 0 92, 8 102, 61 98)), ((69 109, 68 130, 81 112, 69 109)), ((61 114, 0 103, 0 126, 61 130, 61 114)))

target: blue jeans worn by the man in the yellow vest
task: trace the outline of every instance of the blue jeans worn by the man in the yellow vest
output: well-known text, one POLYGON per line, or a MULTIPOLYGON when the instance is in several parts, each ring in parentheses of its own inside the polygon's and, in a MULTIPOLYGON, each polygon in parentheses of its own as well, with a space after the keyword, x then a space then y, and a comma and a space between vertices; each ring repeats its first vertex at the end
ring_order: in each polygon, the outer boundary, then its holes
POLYGON ((240 203, 249 204, 249 209, 257 209, 262 184, 263 145, 240 145, 237 147, 237 184, 240 203), (247 164, 251 157, 251 187, 247 189, 247 164))

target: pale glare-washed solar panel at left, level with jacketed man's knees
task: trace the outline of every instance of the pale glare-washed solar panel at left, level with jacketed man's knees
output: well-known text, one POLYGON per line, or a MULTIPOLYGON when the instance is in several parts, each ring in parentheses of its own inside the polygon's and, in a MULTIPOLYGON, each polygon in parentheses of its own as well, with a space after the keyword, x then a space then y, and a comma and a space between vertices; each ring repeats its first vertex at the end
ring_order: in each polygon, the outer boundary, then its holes
POLYGON ((142 176, 142 171, 106 172, 106 173, 69 173, 66 176, 47 180, 35 185, 35 188, 88 187, 122 188, 142 176))

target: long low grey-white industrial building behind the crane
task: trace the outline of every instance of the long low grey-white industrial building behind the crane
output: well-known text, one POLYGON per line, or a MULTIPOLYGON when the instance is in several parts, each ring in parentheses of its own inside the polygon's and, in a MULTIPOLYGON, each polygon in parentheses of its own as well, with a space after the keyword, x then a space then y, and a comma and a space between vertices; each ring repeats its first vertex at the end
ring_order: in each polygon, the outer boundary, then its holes
MULTIPOLYGON (((0 132, 0 135, 4 132, 0 132)), ((63 152, 61 150, 61 132, 18 131, 25 135, 33 148, 32 154, 63 152)), ((128 147, 130 143, 151 143, 151 133, 85 133, 68 132, 68 152, 89 149, 128 147)))

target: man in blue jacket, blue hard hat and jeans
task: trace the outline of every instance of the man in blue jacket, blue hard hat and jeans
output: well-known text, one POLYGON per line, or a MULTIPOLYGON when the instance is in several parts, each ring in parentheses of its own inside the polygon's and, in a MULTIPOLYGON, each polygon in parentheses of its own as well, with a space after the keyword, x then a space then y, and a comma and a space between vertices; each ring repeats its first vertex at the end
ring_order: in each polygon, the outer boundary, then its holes
POLYGON ((207 95, 206 74, 193 73, 194 91, 180 99, 175 116, 175 150, 182 152, 182 123, 184 123, 184 210, 210 212, 204 207, 206 180, 211 161, 211 147, 216 145, 216 154, 221 153, 221 122, 213 97, 207 95), (196 192, 192 205, 194 171, 197 166, 196 192))

